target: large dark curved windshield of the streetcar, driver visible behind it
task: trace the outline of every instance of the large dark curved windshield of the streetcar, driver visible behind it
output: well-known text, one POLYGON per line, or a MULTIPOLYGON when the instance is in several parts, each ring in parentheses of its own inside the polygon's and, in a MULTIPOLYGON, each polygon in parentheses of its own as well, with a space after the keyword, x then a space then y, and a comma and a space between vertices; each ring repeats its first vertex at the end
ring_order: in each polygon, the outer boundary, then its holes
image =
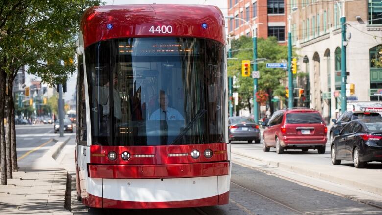
POLYGON ((85 50, 92 144, 222 143, 225 47, 209 39, 124 38, 85 50))

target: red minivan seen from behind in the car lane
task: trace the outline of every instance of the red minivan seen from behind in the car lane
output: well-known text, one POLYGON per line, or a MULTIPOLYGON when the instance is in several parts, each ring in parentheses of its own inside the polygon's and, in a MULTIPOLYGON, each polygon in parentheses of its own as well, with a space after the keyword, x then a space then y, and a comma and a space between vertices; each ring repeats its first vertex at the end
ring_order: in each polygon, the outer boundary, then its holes
POLYGON ((276 111, 263 133, 263 150, 276 148, 277 154, 284 149, 317 149, 325 153, 328 128, 321 114, 309 108, 287 108, 276 111))

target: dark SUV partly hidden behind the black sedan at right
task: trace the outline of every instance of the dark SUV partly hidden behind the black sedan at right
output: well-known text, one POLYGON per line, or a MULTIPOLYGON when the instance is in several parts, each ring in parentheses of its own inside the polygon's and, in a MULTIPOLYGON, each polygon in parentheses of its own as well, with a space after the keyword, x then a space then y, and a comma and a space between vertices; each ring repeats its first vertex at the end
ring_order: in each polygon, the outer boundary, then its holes
POLYGON ((346 111, 341 116, 339 116, 338 120, 332 119, 334 125, 330 128, 329 132, 329 142, 332 143, 334 137, 334 130, 342 130, 345 125, 347 125, 350 121, 356 119, 382 119, 381 115, 377 112, 371 111, 346 111))

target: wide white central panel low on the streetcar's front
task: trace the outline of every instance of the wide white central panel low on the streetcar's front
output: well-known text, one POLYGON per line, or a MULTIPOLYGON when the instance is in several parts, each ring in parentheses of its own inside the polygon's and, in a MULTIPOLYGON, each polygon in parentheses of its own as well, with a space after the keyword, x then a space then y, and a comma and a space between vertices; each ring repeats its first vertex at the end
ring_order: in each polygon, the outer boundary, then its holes
POLYGON ((170 179, 103 179, 103 197, 135 202, 184 201, 216 196, 217 176, 170 179))

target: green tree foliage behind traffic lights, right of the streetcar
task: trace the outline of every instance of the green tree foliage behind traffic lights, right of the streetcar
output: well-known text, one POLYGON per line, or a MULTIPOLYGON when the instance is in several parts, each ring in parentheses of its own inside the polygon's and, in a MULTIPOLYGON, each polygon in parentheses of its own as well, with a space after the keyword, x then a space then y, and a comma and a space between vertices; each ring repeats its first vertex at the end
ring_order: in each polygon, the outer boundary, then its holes
MULTIPOLYGON (((236 57, 239 60, 228 61, 228 76, 236 77, 236 85, 239 86, 237 92, 240 97, 238 108, 242 109, 244 107, 250 107, 248 101, 253 98, 252 77, 241 76, 241 60, 252 61, 253 58, 252 38, 242 36, 238 40, 233 40, 231 47, 233 50, 232 57, 236 57)), ((268 59, 267 62, 286 61, 287 50, 287 46, 279 45, 275 37, 257 39, 258 58, 266 58, 268 59)), ((253 65, 251 65, 251 70, 253 70, 253 65)), ((283 96, 285 94, 285 87, 281 85, 280 81, 287 77, 286 70, 268 69, 265 63, 259 63, 258 70, 260 71, 258 90, 273 92, 274 96, 283 96)))

